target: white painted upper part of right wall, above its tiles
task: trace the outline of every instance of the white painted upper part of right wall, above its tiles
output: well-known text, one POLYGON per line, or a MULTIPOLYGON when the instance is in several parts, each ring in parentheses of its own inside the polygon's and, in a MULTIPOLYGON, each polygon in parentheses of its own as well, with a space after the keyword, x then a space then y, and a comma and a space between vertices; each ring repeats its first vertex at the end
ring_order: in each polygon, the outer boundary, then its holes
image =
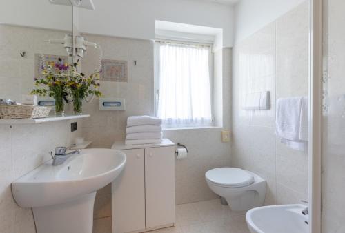
POLYGON ((235 6, 234 42, 257 32, 304 0, 242 0, 235 6))

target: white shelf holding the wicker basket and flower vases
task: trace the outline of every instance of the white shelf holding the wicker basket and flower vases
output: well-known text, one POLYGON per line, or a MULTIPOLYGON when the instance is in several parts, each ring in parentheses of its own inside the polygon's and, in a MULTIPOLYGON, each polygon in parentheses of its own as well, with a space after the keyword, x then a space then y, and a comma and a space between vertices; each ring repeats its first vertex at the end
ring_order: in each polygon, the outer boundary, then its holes
POLYGON ((37 119, 0 119, 1 125, 19 125, 19 124, 37 124, 37 123, 46 123, 52 121, 68 121, 74 119, 80 119, 90 117, 90 115, 65 115, 63 117, 50 116, 46 118, 37 118, 37 119))

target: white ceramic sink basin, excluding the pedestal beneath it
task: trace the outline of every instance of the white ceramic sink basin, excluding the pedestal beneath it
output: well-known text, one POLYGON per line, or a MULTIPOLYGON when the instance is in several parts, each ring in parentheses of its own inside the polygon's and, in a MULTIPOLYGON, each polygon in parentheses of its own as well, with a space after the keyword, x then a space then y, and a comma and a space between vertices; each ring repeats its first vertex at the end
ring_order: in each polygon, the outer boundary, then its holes
POLYGON ((21 207, 55 205, 111 183, 124 168, 126 155, 118 150, 85 149, 59 166, 51 161, 12 183, 21 207))

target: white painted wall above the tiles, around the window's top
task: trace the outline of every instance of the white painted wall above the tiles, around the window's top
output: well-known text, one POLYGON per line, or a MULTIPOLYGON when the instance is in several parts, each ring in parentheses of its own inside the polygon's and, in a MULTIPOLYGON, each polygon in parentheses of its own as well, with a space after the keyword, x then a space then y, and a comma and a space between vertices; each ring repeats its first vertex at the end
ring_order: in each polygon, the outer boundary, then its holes
POLYGON ((79 30, 135 39, 155 39, 155 20, 222 28, 224 47, 233 45, 233 8, 188 0, 95 0, 79 10, 79 30))

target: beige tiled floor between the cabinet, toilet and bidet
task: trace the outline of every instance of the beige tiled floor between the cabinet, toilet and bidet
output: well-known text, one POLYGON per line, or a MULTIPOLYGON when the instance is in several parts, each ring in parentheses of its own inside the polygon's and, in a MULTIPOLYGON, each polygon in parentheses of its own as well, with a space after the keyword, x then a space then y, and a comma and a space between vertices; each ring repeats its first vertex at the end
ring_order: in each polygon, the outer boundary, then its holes
POLYGON ((158 233, 249 233, 245 212, 232 212, 219 199, 176 207, 176 226, 158 233))

